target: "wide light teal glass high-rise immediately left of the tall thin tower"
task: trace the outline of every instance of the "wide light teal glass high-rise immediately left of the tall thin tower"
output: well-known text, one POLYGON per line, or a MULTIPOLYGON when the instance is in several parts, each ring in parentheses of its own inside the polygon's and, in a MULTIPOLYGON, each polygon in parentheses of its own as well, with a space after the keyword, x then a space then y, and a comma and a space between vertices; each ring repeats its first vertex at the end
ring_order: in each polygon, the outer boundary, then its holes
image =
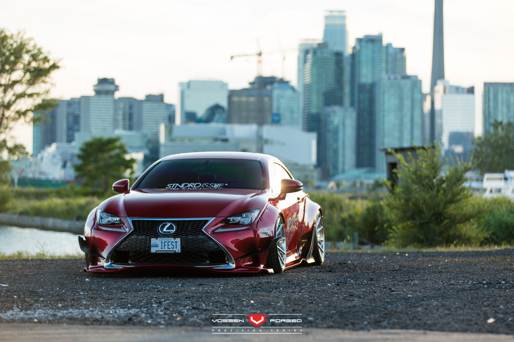
POLYGON ((423 145, 423 93, 417 76, 384 75, 376 85, 376 166, 386 173, 380 149, 423 145))

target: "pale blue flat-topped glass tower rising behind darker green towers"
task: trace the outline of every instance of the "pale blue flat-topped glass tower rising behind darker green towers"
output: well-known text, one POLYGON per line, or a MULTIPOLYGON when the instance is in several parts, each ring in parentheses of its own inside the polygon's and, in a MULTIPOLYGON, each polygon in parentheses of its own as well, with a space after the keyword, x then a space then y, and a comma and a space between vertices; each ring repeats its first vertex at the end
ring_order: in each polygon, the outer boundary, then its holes
POLYGON ((348 54, 348 32, 346 31, 345 11, 326 11, 323 43, 334 51, 348 54))

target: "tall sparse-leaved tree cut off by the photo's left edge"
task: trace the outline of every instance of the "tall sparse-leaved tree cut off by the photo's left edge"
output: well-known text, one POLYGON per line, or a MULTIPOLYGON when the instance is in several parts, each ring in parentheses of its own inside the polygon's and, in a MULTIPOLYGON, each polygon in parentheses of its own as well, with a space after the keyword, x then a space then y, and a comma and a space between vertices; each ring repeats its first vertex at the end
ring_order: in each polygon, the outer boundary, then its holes
POLYGON ((15 124, 33 122, 34 111, 53 108, 48 100, 50 75, 59 69, 54 60, 22 32, 0 28, 0 208, 9 198, 11 164, 9 160, 27 155, 25 146, 10 136, 15 124))

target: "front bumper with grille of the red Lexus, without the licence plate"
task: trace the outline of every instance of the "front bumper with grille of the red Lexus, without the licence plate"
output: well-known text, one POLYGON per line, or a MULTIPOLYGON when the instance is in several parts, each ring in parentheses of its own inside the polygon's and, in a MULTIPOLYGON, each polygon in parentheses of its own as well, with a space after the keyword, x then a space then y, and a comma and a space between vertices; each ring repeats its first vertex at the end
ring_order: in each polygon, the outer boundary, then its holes
POLYGON ((126 232, 102 230, 95 221, 90 222, 90 228, 88 229, 86 223, 85 240, 81 243, 81 249, 86 253, 86 257, 89 255, 90 265, 85 271, 116 272, 128 269, 173 269, 186 272, 272 273, 271 269, 265 267, 266 251, 271 243, 271 237, 269 234, 261 236, 260 232, 272 232, 273 223, 258 219, 246 230, 214 233, 219 227, 225 226, 222 223, 224 219, 224 217, 168 219, 122 217, 126 232), (197 229, 195 232, 191 232, 191 230, 187 231, 184 228, 180 231, 180 224, 184 226, 187 222, 200 220, 206 222, 201 230, 197 229), (146 227, 141 228, 142 221, 150 222, 147 224, 148 229, 146 227), (179 223, 177 232, 170 237, 189 234, 185 237, 186 249, 183 249, 186 253, 156 255, 150 253, 149 250, 145 250, 146 240, 144 239, 152 235, 159 235, 157 231, 152 233, 152 229, 160 221, 179 223), (210 256, 209 253, 211 253, 210 256), (188 259, 192 255, 196 258, 194 262, 193 259, 188 259), (203 255, 207 255, 208 259, 202 262, 203 255), (214 259, 212 255, 215 255, 214 259))

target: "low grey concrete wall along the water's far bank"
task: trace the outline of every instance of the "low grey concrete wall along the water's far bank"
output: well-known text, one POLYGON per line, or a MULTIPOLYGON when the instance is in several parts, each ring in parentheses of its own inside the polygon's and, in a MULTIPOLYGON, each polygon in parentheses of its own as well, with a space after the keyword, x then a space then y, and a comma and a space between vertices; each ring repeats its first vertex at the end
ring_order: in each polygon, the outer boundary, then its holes
POLYGON ((46 231, 84 234, 84 221, 61 220, 53 217, 0 214, 0 224, 43 229, 46 231))

